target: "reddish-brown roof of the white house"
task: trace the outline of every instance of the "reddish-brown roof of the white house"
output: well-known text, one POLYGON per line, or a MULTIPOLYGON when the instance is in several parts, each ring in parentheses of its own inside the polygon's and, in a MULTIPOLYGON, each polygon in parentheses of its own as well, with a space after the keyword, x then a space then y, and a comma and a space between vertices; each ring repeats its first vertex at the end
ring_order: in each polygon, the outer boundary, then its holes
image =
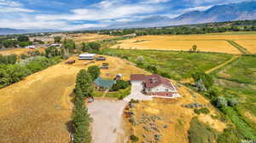
POLYGON ((132 74, 131 81, 143 81, 145 83, 145 88, 152 89, 160 84, 166 85, 170 89, 175 89, 172 83, 165 77, 160 75, 143 75, 143 74, 132 74))

